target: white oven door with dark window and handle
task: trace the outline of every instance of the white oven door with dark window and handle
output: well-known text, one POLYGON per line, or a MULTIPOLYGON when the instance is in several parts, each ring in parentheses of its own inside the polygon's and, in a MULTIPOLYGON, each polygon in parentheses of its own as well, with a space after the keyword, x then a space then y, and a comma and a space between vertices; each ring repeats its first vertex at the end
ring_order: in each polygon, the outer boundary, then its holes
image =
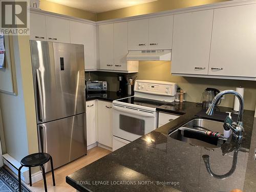
POLYGON ((113 105, 113 135, 127 141, 144 136, 157 127, 157 112, 113 105))

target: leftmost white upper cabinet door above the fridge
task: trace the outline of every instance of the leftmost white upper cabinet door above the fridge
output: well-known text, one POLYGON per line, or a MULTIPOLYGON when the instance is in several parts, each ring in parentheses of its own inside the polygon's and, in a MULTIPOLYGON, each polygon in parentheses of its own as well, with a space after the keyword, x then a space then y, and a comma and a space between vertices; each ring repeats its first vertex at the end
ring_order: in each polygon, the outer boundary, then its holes
POLYGON ((46 40, 46 16, 30 13, 30 39, 46 40))

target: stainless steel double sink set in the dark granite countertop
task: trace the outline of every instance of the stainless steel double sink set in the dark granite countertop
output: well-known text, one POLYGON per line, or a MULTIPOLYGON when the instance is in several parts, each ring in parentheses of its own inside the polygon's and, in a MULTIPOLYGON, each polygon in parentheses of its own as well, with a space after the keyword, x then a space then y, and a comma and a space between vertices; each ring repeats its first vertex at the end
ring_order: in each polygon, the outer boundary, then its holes
POLYGON ((192 146, 202 146, 207 148, 221 147, 227 140, 223 137, 223 123, 214 120, 197 118, 181 125, 176 130, 169 133, 169 137, 189 143, 192 146), (208 136, 206 131, 219 132, 220 137, 208 136))

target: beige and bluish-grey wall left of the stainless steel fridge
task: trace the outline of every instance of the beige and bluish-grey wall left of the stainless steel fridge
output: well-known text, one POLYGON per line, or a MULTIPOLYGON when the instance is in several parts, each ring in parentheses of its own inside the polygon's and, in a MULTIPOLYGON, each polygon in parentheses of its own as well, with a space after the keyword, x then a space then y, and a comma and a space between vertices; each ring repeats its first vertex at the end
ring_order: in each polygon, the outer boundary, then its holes
MULTIPOLYGON (((17 161, 38 152, 29 36, 13 36, 17 95, 0 93, 6 153, 17 161)), ((2 133, 2 130, 1 130, 2 133)), ((38 167, 32 169, 35 173, 38 167)))

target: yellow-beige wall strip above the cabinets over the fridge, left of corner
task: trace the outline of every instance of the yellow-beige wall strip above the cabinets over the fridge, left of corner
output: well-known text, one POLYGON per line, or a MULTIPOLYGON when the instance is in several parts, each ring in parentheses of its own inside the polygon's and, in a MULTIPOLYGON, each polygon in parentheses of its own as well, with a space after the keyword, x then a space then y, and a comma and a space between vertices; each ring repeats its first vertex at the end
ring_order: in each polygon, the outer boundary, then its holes
POLYGON ((40 9, 44 11, 49 11, 53 13, 59 13, 62 15, 68 15, 78 18, 84 18, 88 20, 96 21, 97 16, 96 13, 91 13, 89 11, 84 11, 52 2, 48 2, 46 0, 40 0, 40 9))

